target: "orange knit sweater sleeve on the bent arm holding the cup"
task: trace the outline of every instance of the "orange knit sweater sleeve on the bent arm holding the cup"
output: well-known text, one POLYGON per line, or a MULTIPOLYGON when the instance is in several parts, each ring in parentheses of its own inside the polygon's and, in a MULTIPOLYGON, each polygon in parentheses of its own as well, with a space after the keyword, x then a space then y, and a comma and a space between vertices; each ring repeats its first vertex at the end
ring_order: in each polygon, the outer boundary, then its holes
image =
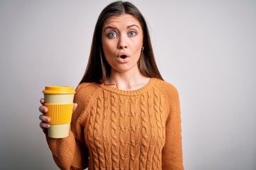
POLYGON ((78 123, 80 115, 85 111, 85 103, 79 97, 78 89, 76 89, 77 94, 74 100, 75 103, 78 103, 78 107, 72 115, 69 136, 53 139, 46 134, 46 140, 55 164, 64 170, 85 169, 88 164, 89 152, 85 145, 82 126, 78 123))

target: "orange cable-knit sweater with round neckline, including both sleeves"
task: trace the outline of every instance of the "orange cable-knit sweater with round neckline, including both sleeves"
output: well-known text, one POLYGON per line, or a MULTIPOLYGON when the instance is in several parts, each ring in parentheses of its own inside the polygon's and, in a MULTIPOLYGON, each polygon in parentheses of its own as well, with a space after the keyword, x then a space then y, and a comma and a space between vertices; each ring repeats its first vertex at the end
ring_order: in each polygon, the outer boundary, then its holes
POLYGON ((151 78, 142 89, 122 91, 83 83, 75 103, 70 135, 46 135, 60 169, 183 169, 178 91, 171 84, 151 78))

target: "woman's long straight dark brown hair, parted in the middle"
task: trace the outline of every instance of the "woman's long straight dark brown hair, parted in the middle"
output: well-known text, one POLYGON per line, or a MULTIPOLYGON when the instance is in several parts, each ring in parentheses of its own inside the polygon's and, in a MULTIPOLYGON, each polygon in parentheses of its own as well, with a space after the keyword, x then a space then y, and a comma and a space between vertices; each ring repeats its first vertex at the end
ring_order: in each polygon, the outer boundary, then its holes
POLYGON ((155 77, 163 79, 157 68, 156 61, 154 59, 154 52, 149 37, 149 30, 146 26, 146 21, 139 9, 132 3, 127 1, 115 1, 106 6, 100 13, 99 18, 95 26, 95 30, 92 37, 92 47, 90 50, 90 57, 87 63, 85 74, 80 81, 83 82, 95 82, 100 84, 104 82, 107 77, 110 76, 110 64, 105 59, 104 52, 102 50, 102 27, 107 18, 110 16, 118 16, 123 13, 130 14, 137 18, 142 25, 143 30, 143 45, 144 50, 138 61, 139 71, 145 77, 155 77))

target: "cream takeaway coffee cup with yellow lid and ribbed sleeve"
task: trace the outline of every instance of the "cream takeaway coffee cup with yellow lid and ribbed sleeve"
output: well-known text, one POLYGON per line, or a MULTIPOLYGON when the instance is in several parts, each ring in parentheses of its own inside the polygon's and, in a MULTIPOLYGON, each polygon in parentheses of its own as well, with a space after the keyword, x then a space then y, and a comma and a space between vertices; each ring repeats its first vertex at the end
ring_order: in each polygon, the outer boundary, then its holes
POLYGON ((73 113, 75 91, 72 86, 46 86, 42 91, 44 106, 48 108, 46 116, 50 118, 48 137, 68 137, 73 113))

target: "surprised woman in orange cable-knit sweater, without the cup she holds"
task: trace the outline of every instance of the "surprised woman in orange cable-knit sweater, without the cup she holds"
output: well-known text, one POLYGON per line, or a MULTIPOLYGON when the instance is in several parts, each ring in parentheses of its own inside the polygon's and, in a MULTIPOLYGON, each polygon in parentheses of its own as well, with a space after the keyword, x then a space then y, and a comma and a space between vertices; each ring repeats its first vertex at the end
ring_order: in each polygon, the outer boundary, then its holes
POLYGON ((74 102, 68 137, 49 138, 50 118, 40 116, 60 169, 183 169, 178 92, 162 79, 133 4, 116 1, 100 13, 74 102))

